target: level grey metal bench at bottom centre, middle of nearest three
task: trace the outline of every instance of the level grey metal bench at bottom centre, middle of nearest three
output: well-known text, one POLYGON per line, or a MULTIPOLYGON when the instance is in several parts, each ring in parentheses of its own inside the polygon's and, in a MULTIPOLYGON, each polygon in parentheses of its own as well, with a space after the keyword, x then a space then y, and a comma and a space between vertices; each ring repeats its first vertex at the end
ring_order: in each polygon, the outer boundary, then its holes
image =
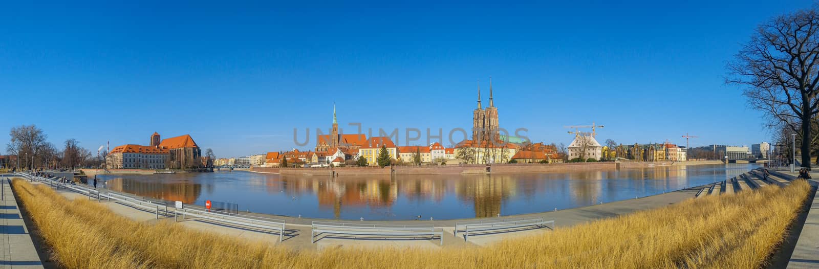
POLYGON ((432 225, 378 225, 343 222, 313 222, 310 229, 310 241, 315 243, 315 236, 325 234, 337 235, 387 235, 387 236, 420 236, 428 235, 435 240, 437 235, 444 244, 444 231, 432 225))

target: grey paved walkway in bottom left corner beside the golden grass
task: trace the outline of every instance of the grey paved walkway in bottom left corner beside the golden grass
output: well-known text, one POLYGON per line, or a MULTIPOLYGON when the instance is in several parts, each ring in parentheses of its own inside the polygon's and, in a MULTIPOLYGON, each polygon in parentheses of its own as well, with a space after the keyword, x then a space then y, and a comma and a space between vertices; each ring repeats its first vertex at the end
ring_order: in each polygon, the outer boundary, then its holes
POLYGON ((0 201, 0 268, 43 268, 6 177, 0 201))

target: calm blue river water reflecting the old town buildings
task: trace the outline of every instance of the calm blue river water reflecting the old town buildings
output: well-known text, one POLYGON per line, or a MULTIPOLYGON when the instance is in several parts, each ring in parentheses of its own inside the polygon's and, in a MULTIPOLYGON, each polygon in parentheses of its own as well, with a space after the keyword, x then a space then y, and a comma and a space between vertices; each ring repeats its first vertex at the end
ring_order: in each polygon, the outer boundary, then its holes
POLYGON ((99 175, 101 185, 186 204, 346 220, 496 217, 657 195, 735 177, 758 164, 667 166, 512 175, 329 177, 244 171, 99 175))

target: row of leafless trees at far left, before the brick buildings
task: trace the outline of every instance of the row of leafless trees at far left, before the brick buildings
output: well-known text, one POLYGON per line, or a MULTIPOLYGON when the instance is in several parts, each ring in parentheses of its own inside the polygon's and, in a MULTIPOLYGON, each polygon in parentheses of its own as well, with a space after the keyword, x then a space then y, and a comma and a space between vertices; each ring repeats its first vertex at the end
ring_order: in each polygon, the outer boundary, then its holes
POLYGON ((94 158, 91 150, 79 146, 79 141, 69 138, 58 149, 48 140, 48 135, 34 124, 20 125, 11 128, 6 151, 9 155, 17 155, 14 162, 6 164, 8 168, 48 169, 68 168, 81 166, 98 166, 101 160, 94 158))

